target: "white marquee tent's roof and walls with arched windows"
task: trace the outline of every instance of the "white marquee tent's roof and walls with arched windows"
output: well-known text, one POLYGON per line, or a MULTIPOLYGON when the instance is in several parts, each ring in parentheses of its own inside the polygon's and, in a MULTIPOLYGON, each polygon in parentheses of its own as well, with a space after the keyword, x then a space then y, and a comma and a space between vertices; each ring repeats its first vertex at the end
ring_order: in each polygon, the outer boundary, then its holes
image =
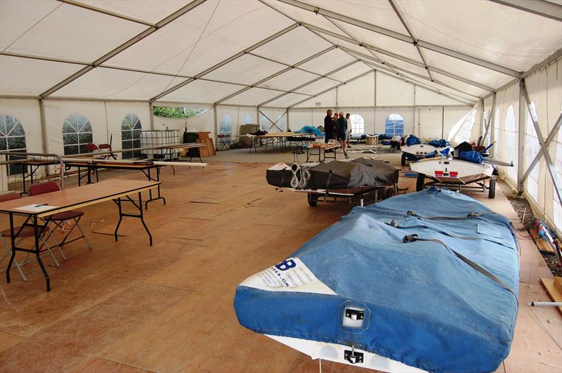
POLYGON ((561 57, 560 0, 0 0, 0 148, 62 154, 84 131, 120 148, 164 123, 152 105, 206 108, 188 126, 214 135, 334 107, 384 133, 398 114, 405 133, 497 140, 562 228, 561 57))

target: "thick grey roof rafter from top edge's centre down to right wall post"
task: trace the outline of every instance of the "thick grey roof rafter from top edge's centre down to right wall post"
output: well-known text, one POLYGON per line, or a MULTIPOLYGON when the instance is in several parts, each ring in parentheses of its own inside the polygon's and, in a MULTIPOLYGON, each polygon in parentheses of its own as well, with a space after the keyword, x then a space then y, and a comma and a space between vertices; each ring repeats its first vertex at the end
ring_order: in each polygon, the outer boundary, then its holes
POLYGON ((278 0, 285 4, 289 4, 295 6, 296 8, 301 8, 306 11, 311 11, 316 14, 325 15, 329 18, 334 18, 335 20, 339 20, 341 22, 348 23, 350 25, 354 25, 357 27, 361 27, 365 30, 370 30, 372 32, 377 32, 378 34, 386 35, 387 37, 392 37, 394 39, 398 39, 401 41, 405 41, 409 44, 417 44, 421 48, 430 49, 431 51, 435 51, 441 54, 449 55, 450 57, 457 58, 459 60, 464 60, 469 63, 473 63, 474 65, 478 65, 481 67, 486 67, 490 70, 495 70, 497 72, 501 72, 502 74, 511 75, 512 77, 520 77, 521 72, 517 72, 516 70, 509 69, 508 67, 504 67, 501 65, 497 65, 490 61, 482 60, 481 58, 472 57, 470 55, 466 55, 464 53, 453 51, 452 49, 445 48, 443 46, 438 46, 436 44, 431 44, 427 41, 418 40, 417 43, 408 35, 400 34, 399 32, 394 32, 392 30, 387 30, 383 27, 375 26, 367 22, 363 22, 360 20, 355 20, 354 18, 348 17, 346 15, 341 15, 338 13, 334 13, 332 11, 327 11, 326 9, 319 8, 317 6, 313 6, 310 4, 303 3, 298 0, 278 0))

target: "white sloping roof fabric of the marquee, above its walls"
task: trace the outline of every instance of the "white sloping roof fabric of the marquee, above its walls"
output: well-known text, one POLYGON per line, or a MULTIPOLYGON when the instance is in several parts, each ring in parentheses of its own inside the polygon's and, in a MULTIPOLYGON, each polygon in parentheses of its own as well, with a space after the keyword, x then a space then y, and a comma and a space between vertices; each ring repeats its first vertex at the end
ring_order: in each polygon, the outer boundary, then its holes
POLYGON ((475 103, 562 55, 562 2, 0 0, 0 96, 292 107, 377 70, 475 103))

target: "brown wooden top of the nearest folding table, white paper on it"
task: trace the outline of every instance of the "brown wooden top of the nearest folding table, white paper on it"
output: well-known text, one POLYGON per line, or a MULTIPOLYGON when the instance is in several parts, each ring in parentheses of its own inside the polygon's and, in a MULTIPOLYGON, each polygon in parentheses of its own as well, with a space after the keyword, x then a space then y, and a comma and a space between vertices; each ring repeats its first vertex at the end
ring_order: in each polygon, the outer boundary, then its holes
POLYGON ((45 193, 44 195, 34 195, 0 202, 0 213, 37 215, 39 217, 49 216, 58 212, 69 211, 110 199, 143 192, 144 190, 155 189, 158 188, 159 184, 159 181, 105 180, 95 184, 45 193), (21 209, 21 207, 32 205, 44 205, 44 209, 41 209, 41 211, 21 209), (51 208, 46 209, 47 206, 51 208))

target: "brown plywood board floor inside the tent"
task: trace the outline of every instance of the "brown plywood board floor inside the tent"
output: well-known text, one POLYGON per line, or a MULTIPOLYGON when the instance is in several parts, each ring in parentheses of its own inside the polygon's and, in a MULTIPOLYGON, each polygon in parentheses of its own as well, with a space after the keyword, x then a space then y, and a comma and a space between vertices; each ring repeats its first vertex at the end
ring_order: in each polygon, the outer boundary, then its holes
MULTIPOLYGON (((240 327, 233 296, 244 278, 299 249, 351 206, 309 207, 303 193, 275 191, 266 185, 268 166, 211 164, 176 169, 175 176, 164 168, 166 205, 150 202, 145 215, 154 247, 134 219, 124 220, 119 242, 93 233, 113 233, 112 202, 85 208, 82 226, 94 249, 81 241, 65 247, 68 260, 48 267, 51 293, 34 263, 24 268, 28 282, 15 272, 11 284, 0 280, 0 371, 318 372, 318 361, 240 327)), ((144 179, 100 173, 112 177, 144 179)), ((414 191, 415 179, 399 185, 414 191)), ((493 200, 471 195, 521 226, 499 188, 493 200)), ((526 306, 549 299, 540 277, 550 273, 534 244, 518 235, 521 306, 511 354, 497 372, 559 372, 562 317, 526 306)), ((322 371, 365 369, 322 362, 322 371)))

